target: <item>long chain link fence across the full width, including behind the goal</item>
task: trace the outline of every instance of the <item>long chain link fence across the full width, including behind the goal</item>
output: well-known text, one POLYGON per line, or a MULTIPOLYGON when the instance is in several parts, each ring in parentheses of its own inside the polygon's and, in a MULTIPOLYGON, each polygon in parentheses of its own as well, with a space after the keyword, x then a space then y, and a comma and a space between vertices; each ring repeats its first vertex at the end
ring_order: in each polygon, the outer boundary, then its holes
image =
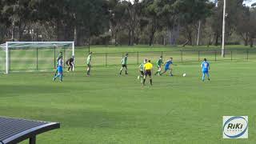
MULTIPOLYGON (((18 70, 53 70, 56 68, 56 57, 62 51, 64 60, 72 56, 71 49, 28 49, 10 50, 10 71, 18 70)), ((233 61, 256 59, 254 49, 230 49, 225 51, 225 58, 221 56, 221 50, 171 50, 152 52, 128 52, 128 64, 138 65, 143 59, 150 59, 155 63, 160 56, 163 60, 172 57, 174 62, 200 62, 203 58, 209 61, 233 61)), ((118 53, 95 53, 92 55, 93 66, 114 66, 121 65, 122 58, 126 52, 118 53)), ((1 70, 5 69, 5 51, 0 53, 1 70)), ((78 48, 75 50, 75 66, 85 67, 88 49, 78 48)))

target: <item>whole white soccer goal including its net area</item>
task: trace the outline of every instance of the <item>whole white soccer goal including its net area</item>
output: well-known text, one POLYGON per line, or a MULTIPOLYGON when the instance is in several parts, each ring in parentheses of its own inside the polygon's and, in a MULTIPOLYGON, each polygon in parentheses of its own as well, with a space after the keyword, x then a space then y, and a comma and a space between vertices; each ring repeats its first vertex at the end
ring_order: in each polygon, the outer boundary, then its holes
POLYGON ((6 42, 0 45, 0 72, 45 71, 57 65, 58 54, 64 63, 74 56, 74 42, 6 42))

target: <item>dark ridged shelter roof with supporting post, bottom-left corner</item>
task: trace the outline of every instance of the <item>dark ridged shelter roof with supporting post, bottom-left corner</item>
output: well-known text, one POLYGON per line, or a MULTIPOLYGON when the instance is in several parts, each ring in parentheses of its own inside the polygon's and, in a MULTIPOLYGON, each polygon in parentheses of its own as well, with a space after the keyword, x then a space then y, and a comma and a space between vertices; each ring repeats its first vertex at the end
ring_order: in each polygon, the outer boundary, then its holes
POLYGON ((58 128, 58 122, 0 117, 0 144, 16 144, 26 139, 30 139, 30 144, 35 144, 38 134, 58 128))

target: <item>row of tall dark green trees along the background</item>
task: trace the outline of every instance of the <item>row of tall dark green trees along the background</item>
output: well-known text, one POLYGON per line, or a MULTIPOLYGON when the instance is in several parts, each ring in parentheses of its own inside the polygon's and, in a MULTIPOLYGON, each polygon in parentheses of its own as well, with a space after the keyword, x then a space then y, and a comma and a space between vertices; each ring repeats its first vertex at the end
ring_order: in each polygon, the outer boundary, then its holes
MULTIPOLYGON (((226 44, 253 46, 256 8, 227 0, 226 44)), ((0 42, 216 45, 223 0, 0 0, 0 42)))

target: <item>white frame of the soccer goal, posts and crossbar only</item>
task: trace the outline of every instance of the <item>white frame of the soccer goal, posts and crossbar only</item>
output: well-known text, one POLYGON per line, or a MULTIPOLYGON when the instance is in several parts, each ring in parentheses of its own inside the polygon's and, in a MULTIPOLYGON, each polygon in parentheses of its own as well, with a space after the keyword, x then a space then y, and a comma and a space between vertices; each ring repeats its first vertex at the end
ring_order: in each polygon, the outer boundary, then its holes
MULTIPOLYGON (((43 49, 43 48, 56 48, 56 47, 62 47, 62 46, 70 46, 72 48, 72 56, 74 57, 74 42, 6 42, 0 45, 0 48, 2 48, 2 54, 0 55, 2 58, 2 61, 5 61, 5 73, 10 73, 10 50, 26 50, 30 49, 33 50, 34 48, 43 49), (5 53, 5 54, 3 54, 5 53)), ((23 52, 25 55, 28 52, 23 52)), ((38 53, 38 52, 37 52, 38 53)), ((18 56, 17 56, 18 58, 18 56)), ((38 58, 37 58, 38 61, 38 58)), ((3 65, 3 64, 2 64, 3 65)))

